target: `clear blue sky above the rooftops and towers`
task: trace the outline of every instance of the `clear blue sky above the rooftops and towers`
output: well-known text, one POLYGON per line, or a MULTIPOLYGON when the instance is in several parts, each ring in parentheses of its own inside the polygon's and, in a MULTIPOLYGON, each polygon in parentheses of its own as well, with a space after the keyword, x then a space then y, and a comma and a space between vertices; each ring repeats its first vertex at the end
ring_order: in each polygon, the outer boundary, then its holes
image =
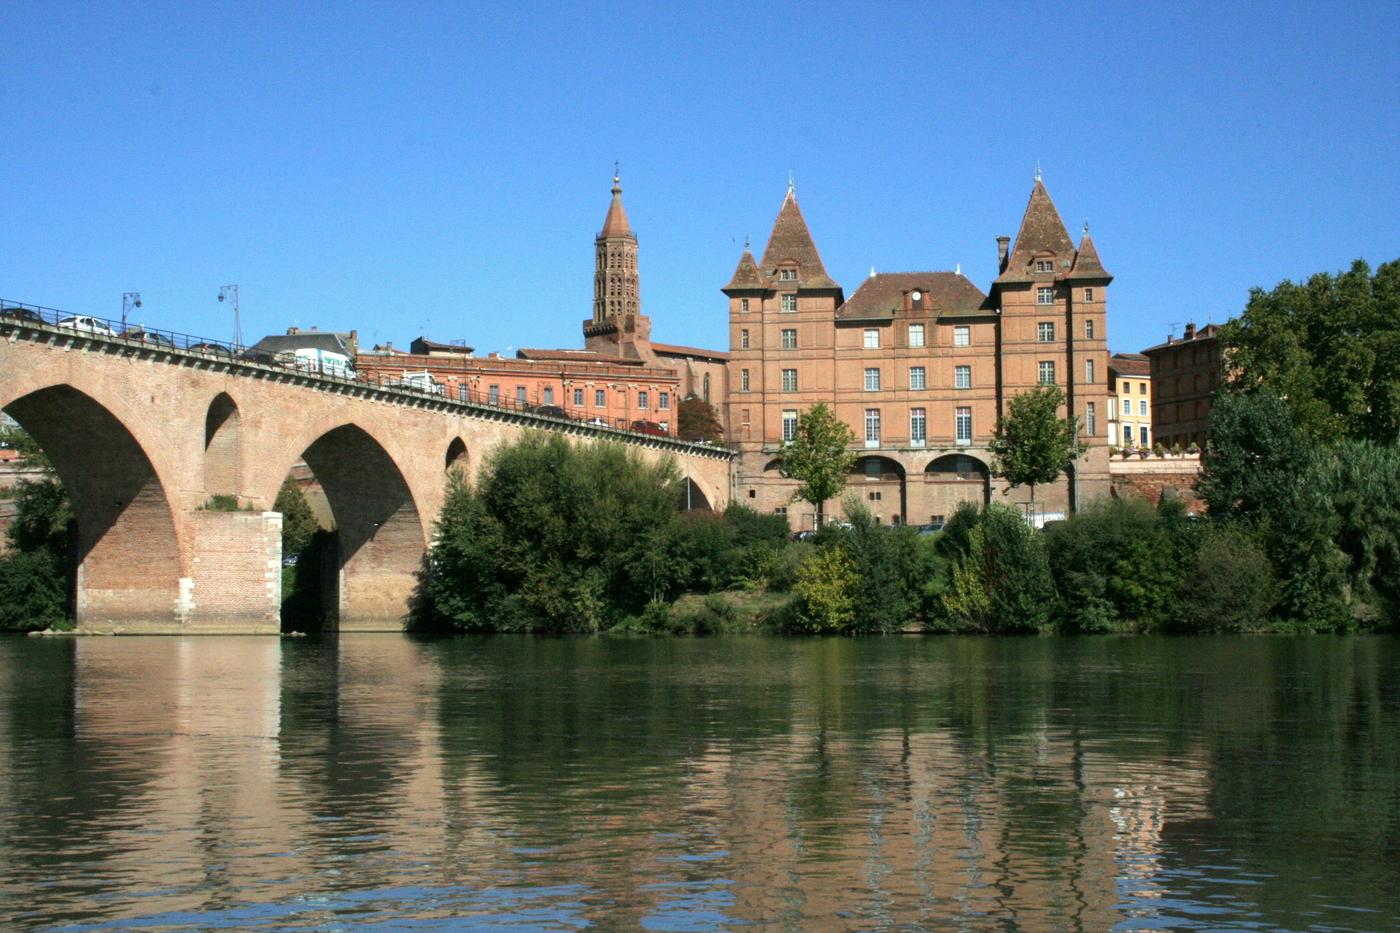
POLYGON ((830 275, 987 289, 1039 163, 1109 340, 1400 256, 1400 4, 0 6, 0 296, 228 339, 578 346, 613 160, 658 340, 787 186, 830 275))

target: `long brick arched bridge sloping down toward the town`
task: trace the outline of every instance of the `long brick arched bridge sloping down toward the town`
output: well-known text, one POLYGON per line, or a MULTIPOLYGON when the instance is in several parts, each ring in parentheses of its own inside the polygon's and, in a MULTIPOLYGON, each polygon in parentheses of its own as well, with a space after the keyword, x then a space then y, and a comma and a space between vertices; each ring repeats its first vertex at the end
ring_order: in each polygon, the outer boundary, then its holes
POLYGON ((342 630, 400 629, 442 506, 529 429, 672 457, 692 504, 722 509, 731 454, 174 346, 0 318, 0 409, 42 445, 77 524, 78 629, 276 632, 283 479, 305 461, 339 538, 342 630), (245 511, 216 511, 235 496, 245 511))

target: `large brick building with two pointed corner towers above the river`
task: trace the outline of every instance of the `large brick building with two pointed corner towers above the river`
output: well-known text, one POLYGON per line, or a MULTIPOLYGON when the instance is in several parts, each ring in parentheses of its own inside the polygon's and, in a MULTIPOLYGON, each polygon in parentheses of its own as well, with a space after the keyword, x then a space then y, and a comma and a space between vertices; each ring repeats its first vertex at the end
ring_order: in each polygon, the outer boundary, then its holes
POLYGON ((872 275, 847 298, 827 275, 791 186, 762 259, 745 249, 729 300, 727 426, 741 452, 735 496, 811 527, 815 507, 778 451, 818 402, 855 433, 848 492, 886 523, 941 521, 959 502, 1023 502, 991 478, 987 444, 1007 399, 1060 385, 1088 452, 1037 506, 1067 510, 1107 492, 1107 289, 1036 178, 1015 244, 998 237, 983 293, 960 272, 872 275))

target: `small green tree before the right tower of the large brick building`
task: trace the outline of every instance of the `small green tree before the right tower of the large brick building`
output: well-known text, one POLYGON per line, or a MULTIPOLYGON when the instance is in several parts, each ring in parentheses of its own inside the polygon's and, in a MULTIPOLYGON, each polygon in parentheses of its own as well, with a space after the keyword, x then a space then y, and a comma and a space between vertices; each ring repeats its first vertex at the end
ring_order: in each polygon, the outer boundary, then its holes
POLYGON ((1065 403, 1058 385, 1042 385, 1007 402, 1005 417, 997 422, 991 438, 993 472, 1012 489, 1053 483, 1085 451, 1075 417, 1060 417, 1065 403))

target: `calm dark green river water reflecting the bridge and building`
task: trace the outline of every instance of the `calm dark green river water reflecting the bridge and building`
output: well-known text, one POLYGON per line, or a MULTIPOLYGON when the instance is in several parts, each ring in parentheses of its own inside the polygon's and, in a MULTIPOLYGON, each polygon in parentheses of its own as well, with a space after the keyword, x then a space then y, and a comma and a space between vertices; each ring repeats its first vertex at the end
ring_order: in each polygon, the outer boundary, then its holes
POLYGON ((0 639, 0 929, 1394 930, 1400 639, 0 639))

